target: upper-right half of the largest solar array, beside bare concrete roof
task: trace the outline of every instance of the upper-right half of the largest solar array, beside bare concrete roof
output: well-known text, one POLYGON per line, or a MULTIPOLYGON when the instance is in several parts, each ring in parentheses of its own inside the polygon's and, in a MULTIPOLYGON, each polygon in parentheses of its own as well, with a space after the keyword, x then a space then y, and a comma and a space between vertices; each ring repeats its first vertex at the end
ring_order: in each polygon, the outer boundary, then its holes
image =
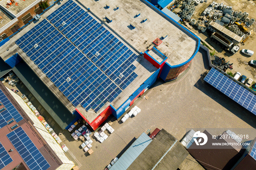
POLYGON ((138 56, 72 0, 47 19, 122 89, 138 76, 132 64, 138 56), (124 76, 118 77, 120 74, 124 76))

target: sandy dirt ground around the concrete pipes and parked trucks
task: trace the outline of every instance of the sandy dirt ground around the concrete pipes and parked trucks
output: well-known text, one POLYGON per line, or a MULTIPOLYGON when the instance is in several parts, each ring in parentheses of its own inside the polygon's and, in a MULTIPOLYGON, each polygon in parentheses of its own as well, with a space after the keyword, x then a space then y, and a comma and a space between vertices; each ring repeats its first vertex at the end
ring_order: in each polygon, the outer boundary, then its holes
MULTIPOLYGON (((193 19, 198 20, 201 13, 213 2, 213 0, 209 0, 207 3, 200 3, 196 6, 195 14, 192 16, 193 19)), ((217 3, 223 2, 225 5, 232 6, 235 11, 242 11, 249 13, 249 18, 256 19, 256 8, 255 3, 256 1, 248 1, 248 0, 215 0, 217 3)), ((182 5, 180 5, 179 8, 175 9, 175 12, 178 12, 182 9, 182 5)), ((244 74, 247 78, 251 77, 256 81, 256 66, 248 65, 248 62, 252 59, 256 59, 256 54, 254 54, 252 57, 249 57, 247 55, 242 54, 240 51, 242 49, 249 49, 252 51, 256 51, 256 22, 253 23, 251 27, 249 27, 248 30, 253 30, 254 33, 249 36, 249 39, 244 43, 244 45, 239 44, 240 50, 236 53, 231 55, 230 53, 227 53, 224 51, 219 45, 212 42, 210 39, 210 33, 207 32, 201 32, 197 29, 196 26, 193 26, 191 29, 192 32, 194 32, 196 35, 198 35, 202 40, 205 40, 210 46, 213 47, 213 49, 216 51, 215 55, 218 57, 224 57, 226 61, 230 61, 230 63, 233 63, 233 70, 231 70, 232 73, 240 72, 242 75, 244 74)), ((230 69, 227 70, 229 72, 230 69)))

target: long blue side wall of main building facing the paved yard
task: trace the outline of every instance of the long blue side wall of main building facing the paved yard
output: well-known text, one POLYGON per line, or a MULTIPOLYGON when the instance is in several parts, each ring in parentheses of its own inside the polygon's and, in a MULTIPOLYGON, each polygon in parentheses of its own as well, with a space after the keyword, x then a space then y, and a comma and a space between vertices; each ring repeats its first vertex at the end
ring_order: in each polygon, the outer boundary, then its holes
POLYGON ((149 87, 154 84, 154 82, 157 80, 157 76, 160 69, 155 71, 129 98, 127 101, 124 102, 117 110, 112 106, 112 115, 116 117, 117 119, 122 116, 125 112, 125 108, 130 105, 131 101, 138 96, 140 92, 142 92, 143 89, 145 89, 148 85, 149 87))

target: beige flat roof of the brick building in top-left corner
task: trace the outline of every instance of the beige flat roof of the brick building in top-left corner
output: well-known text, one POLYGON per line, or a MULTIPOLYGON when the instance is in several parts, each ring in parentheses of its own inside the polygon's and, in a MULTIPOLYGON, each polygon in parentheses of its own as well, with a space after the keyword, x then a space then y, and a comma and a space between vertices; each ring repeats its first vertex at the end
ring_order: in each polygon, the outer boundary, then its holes
POLYGON ((21 11, 23 11, 25 8, 29 7, 31 4, 33 4, 36 1, 38 0, 25 0, 25 1, 15 0, 14 4, 7 5, 7 0, 2 0, 0 1, 0 5, 2 5, 5 9, 10 11, 14 15, 17 15, 18 13, 20 13, 21 11), (18 5, 15 5, 16 3, 18 3, 18 5), (9 8, 6 8, 7 6, 9 6, 9 8))

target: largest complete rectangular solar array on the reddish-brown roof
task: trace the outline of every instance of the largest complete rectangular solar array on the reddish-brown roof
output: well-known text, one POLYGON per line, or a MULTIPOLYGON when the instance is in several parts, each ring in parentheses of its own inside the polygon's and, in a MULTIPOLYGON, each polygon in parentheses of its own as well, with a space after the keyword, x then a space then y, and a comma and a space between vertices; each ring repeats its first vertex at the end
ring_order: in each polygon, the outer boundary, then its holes
POLYGON ((50 167, 22 127, 6 135, 31 170, 46 170, 50 167))

